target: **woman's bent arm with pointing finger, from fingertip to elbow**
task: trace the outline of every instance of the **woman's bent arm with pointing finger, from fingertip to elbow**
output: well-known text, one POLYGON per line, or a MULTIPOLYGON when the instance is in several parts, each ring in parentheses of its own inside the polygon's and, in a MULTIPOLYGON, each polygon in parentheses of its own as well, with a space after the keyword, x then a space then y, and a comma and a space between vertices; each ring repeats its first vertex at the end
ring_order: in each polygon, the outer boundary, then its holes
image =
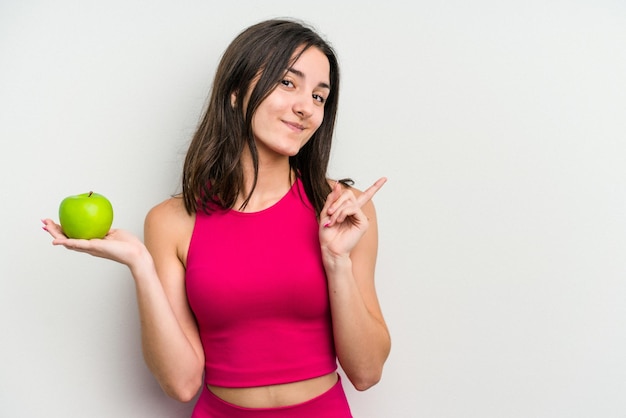
POLYGON ((370 201, 384 181, 364 193, 336 185, 320 217, 337 357, 358 390, 380 380, 391 346, 374 284, 378 230, 370 201))

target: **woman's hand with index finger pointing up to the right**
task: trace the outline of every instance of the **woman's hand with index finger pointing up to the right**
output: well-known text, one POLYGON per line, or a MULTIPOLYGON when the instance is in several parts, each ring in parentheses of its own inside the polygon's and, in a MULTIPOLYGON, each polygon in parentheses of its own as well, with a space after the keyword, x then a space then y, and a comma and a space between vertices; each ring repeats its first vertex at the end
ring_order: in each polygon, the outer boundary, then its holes
POLYGON ((325 258, 350 255, 369 226, 362 208, 386 181, 385 177, 378 179, 358 196, 352 190, 343 189, 339 182, 335 184, 320 214, 319 237, 325 258))

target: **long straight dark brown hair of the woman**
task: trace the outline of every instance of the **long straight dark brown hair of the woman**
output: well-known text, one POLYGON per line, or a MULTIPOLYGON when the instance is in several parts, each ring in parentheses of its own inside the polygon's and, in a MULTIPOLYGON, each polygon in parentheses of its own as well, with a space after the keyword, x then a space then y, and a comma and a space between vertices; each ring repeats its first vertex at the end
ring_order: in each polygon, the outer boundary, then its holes
POLYGON ((216 203, 232 208, 243 190, 241 155, 246 146, 252 154, 256 186, 258 153, 252 117, 259 104, 276 88, 287 69, 308 48, 318 48, 330 63, 331 91, 324 105, 324 119, 311 139, 289 164, 302 180, 305 193, 317 214, 330 186, 326 171, 330 158, 339 93, 339 65, 333 48, 313 29, 293 20, 268 20, 241 32, 228 46, 217 67, 204 116, 193 136, 183 167, 183 200, 188 213, 209 213, 216 203), (247 108, 244 96, 250 92, 247 108), (236 97, 232 104, 233 94, 236 97))

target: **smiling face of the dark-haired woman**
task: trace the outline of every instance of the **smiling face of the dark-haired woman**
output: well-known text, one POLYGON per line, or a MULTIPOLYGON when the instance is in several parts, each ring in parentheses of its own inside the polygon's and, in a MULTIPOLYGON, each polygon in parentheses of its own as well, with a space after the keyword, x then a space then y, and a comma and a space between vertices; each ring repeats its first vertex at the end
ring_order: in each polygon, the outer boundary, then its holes
POLYGON ((296 155, 322 124, 329 93, 328 58, 311 47, 287 70, 252 117, 259 157, 296 155))

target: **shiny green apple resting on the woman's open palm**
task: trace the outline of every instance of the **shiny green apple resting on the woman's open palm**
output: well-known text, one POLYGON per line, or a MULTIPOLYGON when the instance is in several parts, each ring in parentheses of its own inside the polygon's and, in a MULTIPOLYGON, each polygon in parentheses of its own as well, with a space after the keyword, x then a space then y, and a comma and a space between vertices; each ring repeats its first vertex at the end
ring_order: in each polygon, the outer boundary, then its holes
POLYGON ((59 206, 59 222, 69 238, 104 238, 113 224, 113 206, 94 192, 68 196, 59 206))

